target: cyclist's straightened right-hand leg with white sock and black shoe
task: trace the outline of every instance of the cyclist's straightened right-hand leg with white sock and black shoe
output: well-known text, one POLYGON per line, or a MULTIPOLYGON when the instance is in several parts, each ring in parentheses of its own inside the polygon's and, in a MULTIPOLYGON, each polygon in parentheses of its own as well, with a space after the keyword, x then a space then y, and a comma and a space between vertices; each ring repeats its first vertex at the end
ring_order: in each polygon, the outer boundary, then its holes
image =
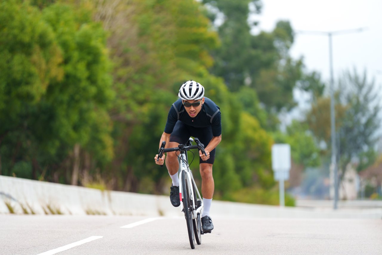
POLYGON ((215 183, 212 177, 212 164, 201 163, 200 175, 202 177, 202 196, 203 196, 203 212, 202 212, 202 229, 205 232, 210 232, 214 229, 212 219, 210 217, 210 207, 212 196, 214 195, 215 183))

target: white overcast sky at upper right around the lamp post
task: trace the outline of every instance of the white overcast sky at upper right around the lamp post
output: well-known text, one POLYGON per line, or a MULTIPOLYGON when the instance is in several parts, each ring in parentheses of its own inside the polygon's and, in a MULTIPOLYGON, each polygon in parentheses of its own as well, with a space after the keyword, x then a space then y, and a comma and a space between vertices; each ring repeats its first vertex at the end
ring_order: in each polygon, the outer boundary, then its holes
MULTIPOLYGON (((337 80, 344 70, 366 69, 382 90, 382 0, 262 0, 259 29, 272 31, 278 20, 289 20, 295 31, 339 31, 366 28, 360 33, 335 35, 333 74, 337 80)), ((291 56, 304 56, 307 70, 321 73, 329 81, 329 38, 297 34, 291 56)), ((382 93, 380 93, 382 95, 382 93)))

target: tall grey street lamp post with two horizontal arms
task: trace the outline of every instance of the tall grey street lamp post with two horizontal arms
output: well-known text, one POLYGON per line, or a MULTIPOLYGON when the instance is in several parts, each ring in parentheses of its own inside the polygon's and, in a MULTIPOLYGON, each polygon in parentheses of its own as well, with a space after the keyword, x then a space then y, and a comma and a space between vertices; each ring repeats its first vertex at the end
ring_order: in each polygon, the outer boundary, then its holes
POLYGON ((335 112, 334 112, 334 89, 333 89, 333 53, 332 53, 332 36, 338 34, 350 34, 350 33, 358 33, 364 31, 364 28, 357 29, 347 29, 340 31, 332 31, 332 32, 323 32, 323 31, 305 31, 298 30, 296 33, 298 34, 315 34, 315 35, 325 35, 329 36, 329 68, 330 68, 330 124, 331 124, 331 134, 332 134, 332 166, 334 172, 334 205, 333 208, 338 208, 338 168, 337 168, 337 149, 335 144, 335 112))

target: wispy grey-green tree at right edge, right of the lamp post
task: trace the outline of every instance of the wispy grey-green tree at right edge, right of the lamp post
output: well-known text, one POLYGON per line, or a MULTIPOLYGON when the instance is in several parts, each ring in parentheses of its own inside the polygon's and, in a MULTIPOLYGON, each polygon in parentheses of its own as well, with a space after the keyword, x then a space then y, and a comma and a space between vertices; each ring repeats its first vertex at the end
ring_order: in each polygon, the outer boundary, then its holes
POLYGON ((338 129, 338 167, 340 178, 347 165, 355 157, 373 149, 377 142, 376 131, 380 127, 380 98, 375 93, 374 80, 367 80, 366 71, 359 75, 354 69, 347 71, 339 80, 340 103, 346 106, 338 129))

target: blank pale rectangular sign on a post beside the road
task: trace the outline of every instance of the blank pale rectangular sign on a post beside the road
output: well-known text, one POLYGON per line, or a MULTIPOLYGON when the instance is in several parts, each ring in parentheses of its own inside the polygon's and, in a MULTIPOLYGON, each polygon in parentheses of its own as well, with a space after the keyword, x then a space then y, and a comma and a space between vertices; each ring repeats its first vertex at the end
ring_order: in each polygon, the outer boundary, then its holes
POLYGON ((272 145, 272 169, 275 180, 279 181, 280 206, 285 206, 284 180, 289 179, 290 170, 290 145, 272 145))

